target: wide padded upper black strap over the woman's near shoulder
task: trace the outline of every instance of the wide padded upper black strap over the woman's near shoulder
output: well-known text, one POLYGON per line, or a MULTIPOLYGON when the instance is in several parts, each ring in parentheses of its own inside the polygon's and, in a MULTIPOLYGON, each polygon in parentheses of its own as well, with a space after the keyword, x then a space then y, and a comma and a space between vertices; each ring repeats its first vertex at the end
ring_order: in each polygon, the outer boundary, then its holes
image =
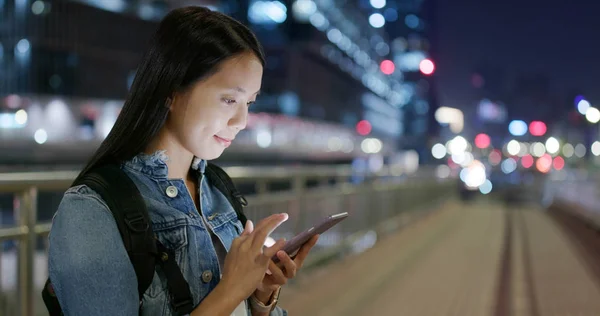
POLYGON ((104 165, 81 177, 113 214, 138 280, 140 301, 152 283, 157 254, 146 203, 135 183, 118 165, 104 165))

